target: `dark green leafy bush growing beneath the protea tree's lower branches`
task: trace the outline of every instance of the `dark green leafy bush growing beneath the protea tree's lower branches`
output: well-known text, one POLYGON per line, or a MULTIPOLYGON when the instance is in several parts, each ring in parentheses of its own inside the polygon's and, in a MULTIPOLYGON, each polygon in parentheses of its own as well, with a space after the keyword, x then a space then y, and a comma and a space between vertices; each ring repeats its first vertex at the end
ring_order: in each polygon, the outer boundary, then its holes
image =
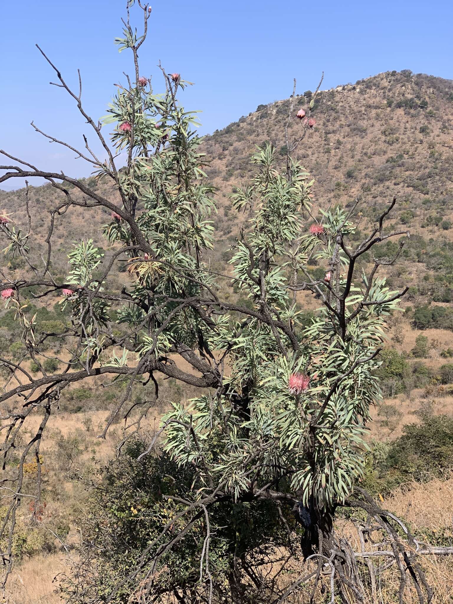
MULTIPOLYGON (((141 452, 143 443, 129 443, 127 451, 104 472, 103 483, 94 490, 86 506, 84 532, 89 535, 89 547, 97 554, 92 556, 94 559, 86 567, 87 576, 92 580, 87 584, 85 602, 98 600, 100 592, 103 599, 112 595, 115 585, 124 579, 125 574, 138 567, 147 545, 155 539, 157 544, 154 549, 159 547, 159 533, 171 518, 176 518, 175 529, 178 533, 184 527, 182 521, 178 520, 178 513, 184 509, 179 498, 187 496, 194 481, 195 469, 191 473, 187 468, 176 466, 167 454, 159 458, 147 455, 142 461, 137 461, 141 452)), ((234 556, 239 559, 249 557, 253 551, 268 547, 269 542, 275 547, 286 545, 288 536, 284 525, 275 506, 267 501, 257 506, 225 501, 217 506, 216 515, 211 509, 207 513, 211 531, 216 535, 209 548, 210 573, 216 590, 214 594, 224 593, 228 589, 225 586, 228 586, 230 561, 234 556)), ((194 561, 203 548, 204 522, 204 516, 194 518, 196 530, 175 541, 172 550, 164 554, 165 573, 156 573, 157 589, 176 591, 181 582, 184 582, 185 588, 188 586, 194 591, 198 588, 199 564, 194 564, 194 561)), ((140 567, 137 573, 139 570, 140 567)), ((137 574, 137 583, 146 582, 146 570, 141 569, 137 574)), ((66 596, 72 594, 77 597, 72 591, 75 588, 71 581, 63 581, 66 596)), ((126 602, 123 596, 123 592, 117 593, 112 604, 126 602)), ((80 601, 79 598, 77 600, 80 601)), ((215 601, 220 599, 216 598, 215 601)))

